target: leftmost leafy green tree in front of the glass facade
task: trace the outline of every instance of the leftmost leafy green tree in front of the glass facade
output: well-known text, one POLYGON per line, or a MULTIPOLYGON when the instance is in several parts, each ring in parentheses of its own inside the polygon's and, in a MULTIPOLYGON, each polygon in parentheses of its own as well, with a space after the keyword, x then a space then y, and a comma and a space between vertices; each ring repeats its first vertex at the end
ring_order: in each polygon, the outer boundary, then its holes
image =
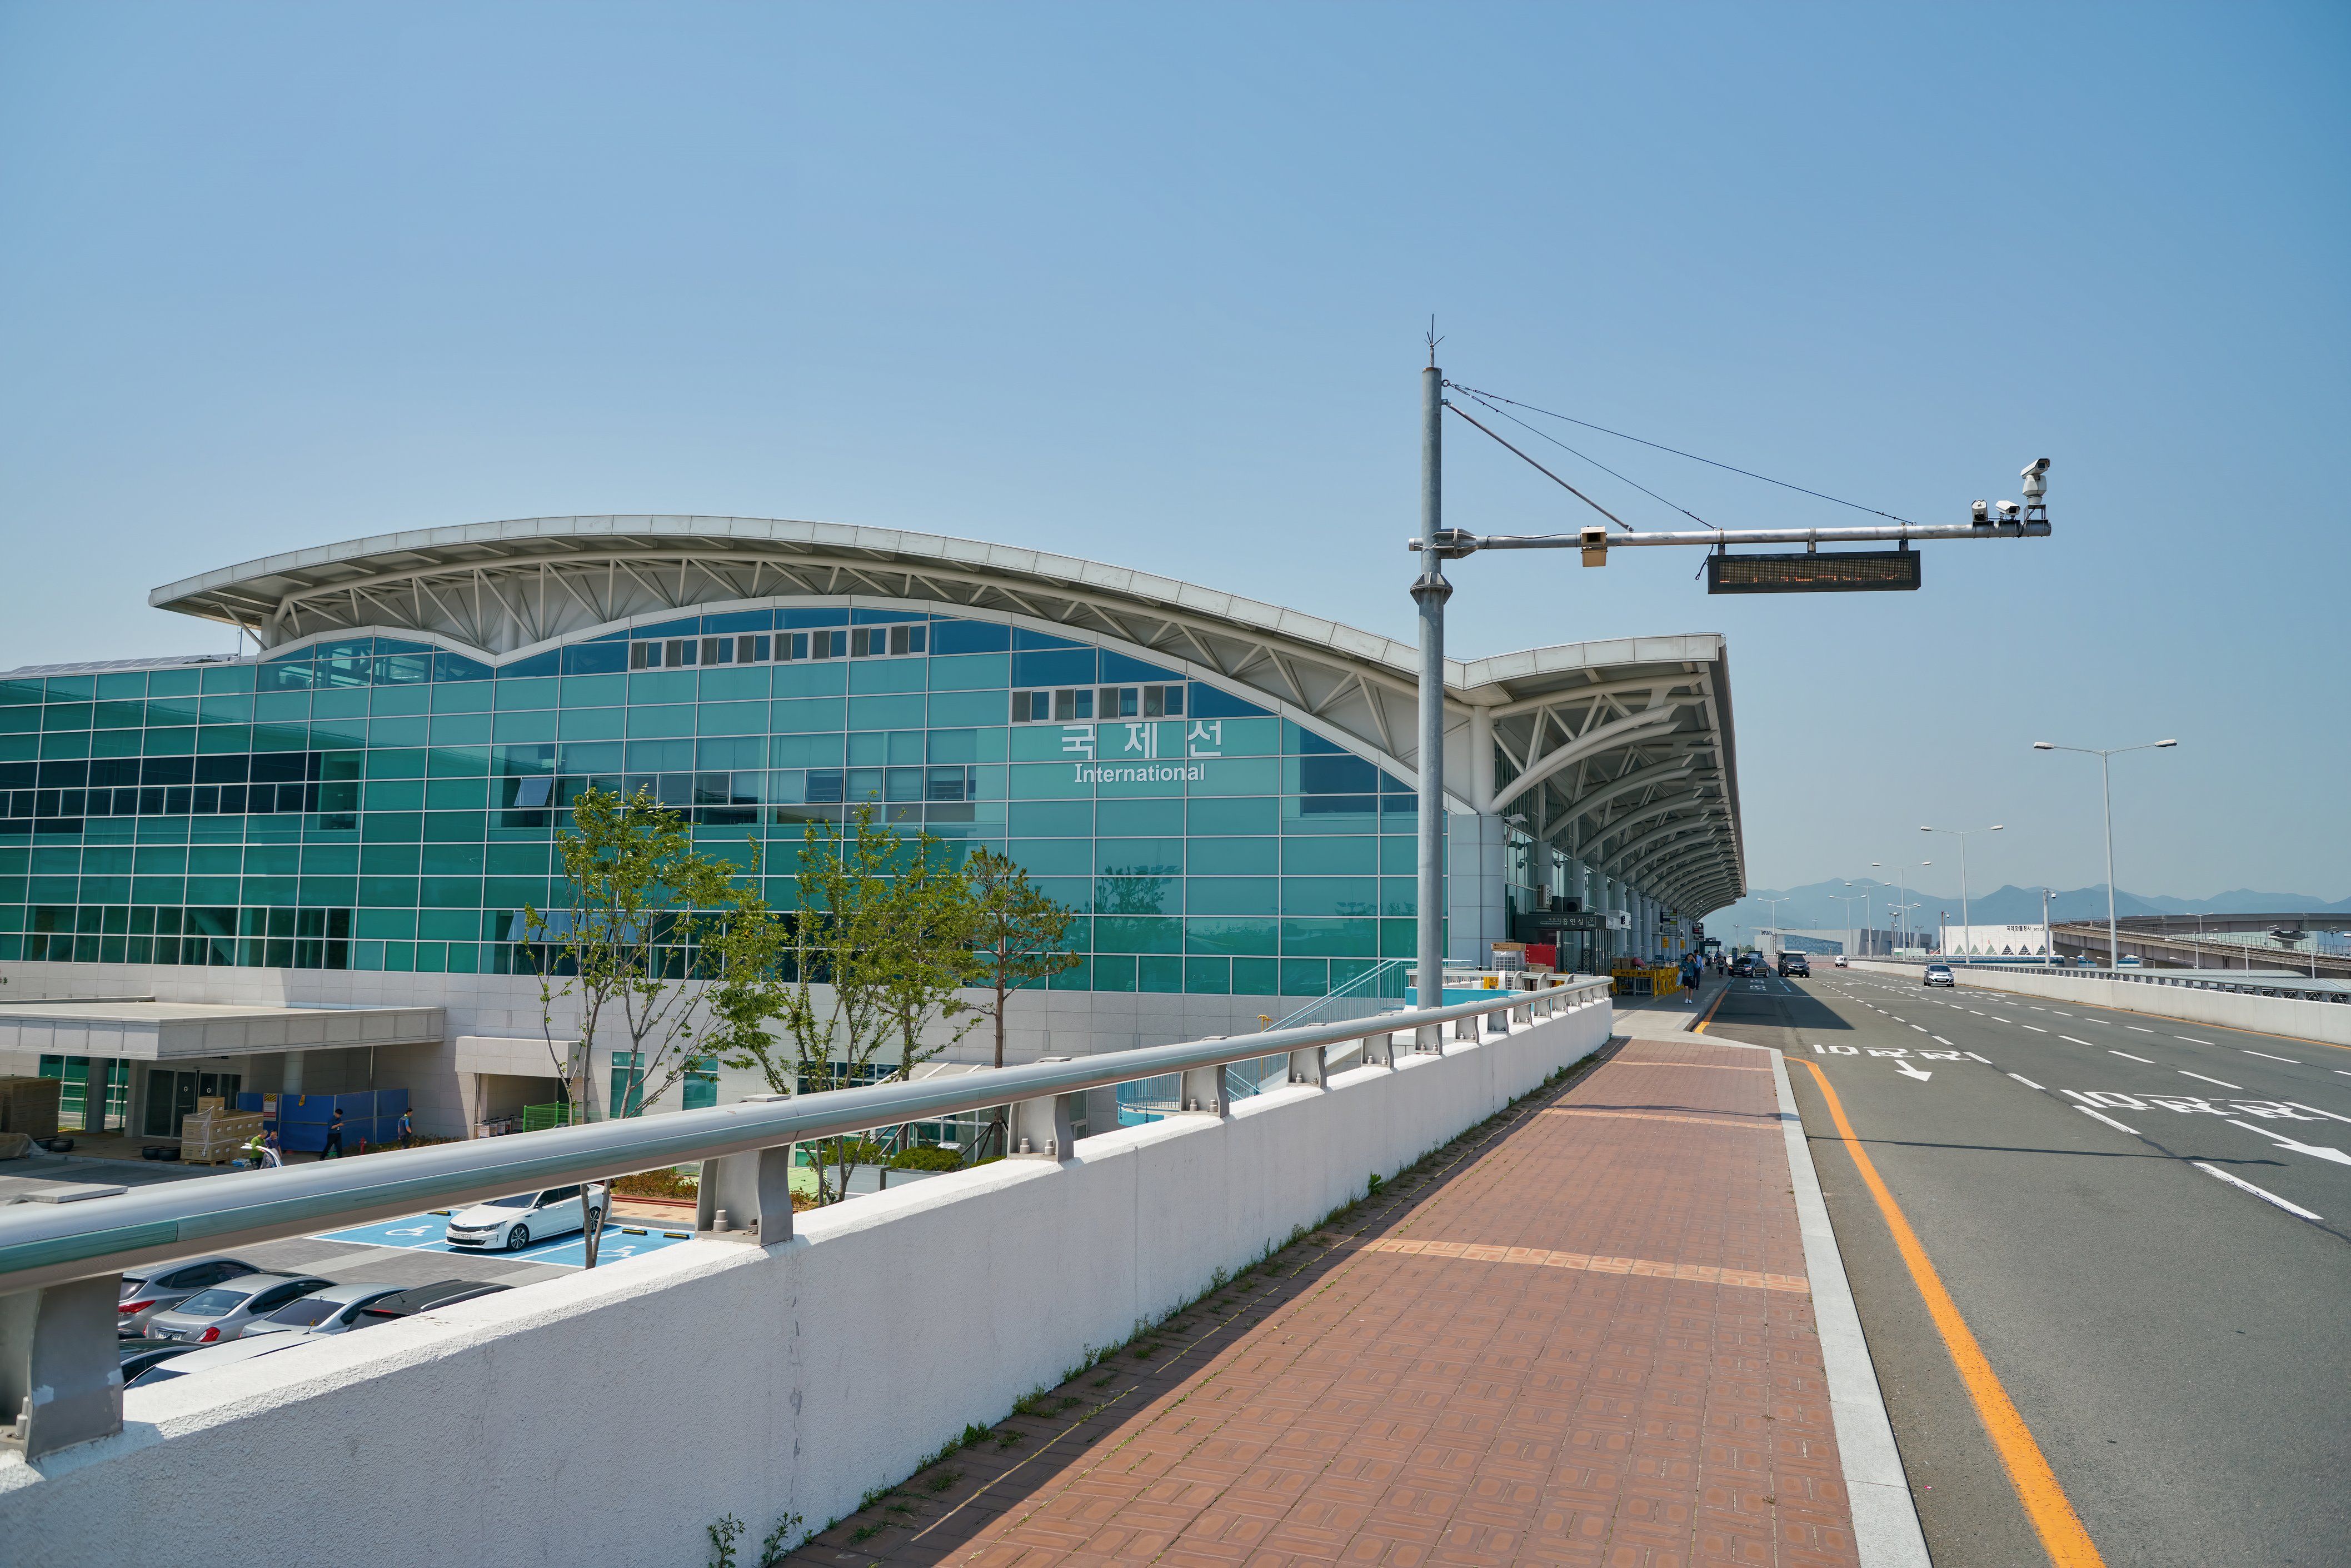
MULTIPOLYGON (((611 1117, 637 1117, 691 1067, 701 987, 694 945, 729 893, 729 867, 694 849, 686 818, 651 790, 585 790, 555 837, 562 903, 524 907, 522 954, 538 976, 538 1027, 574 1114, 595 1100, 600 1041, 625 1041, 611 1117), (557 1025, 576 1039, 557 1039, 557 1025)), ((609 1204, 607 1204, 609 1206, 609 1204)), ((602 1215, 602 1208, 597 1208, 602 1215)), ((602 1222, 588 1225, 595 1267, 602 1222)))

